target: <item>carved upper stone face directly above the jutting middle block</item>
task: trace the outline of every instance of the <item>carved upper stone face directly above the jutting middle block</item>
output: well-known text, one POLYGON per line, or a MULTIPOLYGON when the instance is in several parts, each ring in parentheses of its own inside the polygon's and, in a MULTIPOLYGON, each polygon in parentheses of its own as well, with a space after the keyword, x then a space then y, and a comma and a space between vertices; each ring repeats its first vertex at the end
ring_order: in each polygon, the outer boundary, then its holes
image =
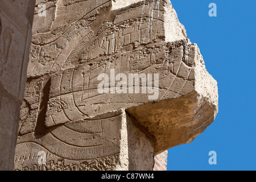
POLYGON ((71 68, 98 56, 112 55, 114 52, 122 51, 124 46, 129 44, 139 46, 159 41, 159 39, 164 40, 163 8, 159 6, 159 2, 148 1, 147 3, 150 6, 134 7, 136 12, 141 12, 143 9, 143 18, 139 13, 126 20, 123 18, 126 12, 121 11, 111 21, 101 20, 100 11, 106 14, 104 17, 109 16, 106 12, 109 11, 107 9, 110 4, 105 2, 76 22, 57 27, 51 33, 34 35, 32 46, 34 47, 34 44, 40 46, 41 51, 36 59, 31 57, 28 76, 40 76, 43 72, 56 72, 60 69, 71 68), (99 30, 90 28, 90 24, 101 24, 101 22, 102 26, 99 30), (97 34, 94 31, 97 31, 97 34), (94 37, 96 35, 97 37, 94 37), (45 69, 39 69, 42 65, 38 65, 38 62, 43 64, 45 69), (32 69, 37 71, 32 72, 32 69))

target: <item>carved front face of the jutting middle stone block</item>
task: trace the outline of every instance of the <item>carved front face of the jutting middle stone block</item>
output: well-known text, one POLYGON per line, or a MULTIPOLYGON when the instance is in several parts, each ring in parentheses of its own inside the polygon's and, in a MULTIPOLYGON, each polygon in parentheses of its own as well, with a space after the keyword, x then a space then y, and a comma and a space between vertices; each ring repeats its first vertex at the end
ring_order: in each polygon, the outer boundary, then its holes
MULTIPOLYGON (((120 93, 117 98, 112 97, 111 93, 99 94, 97 85, 101 81, 97 80, 97 76, 108 73, 109 65, 115 69, 115 74, 159 73, 158 100, 179 98, 192 92, 195 79, 192 68, 195 64, 195 48, 195 45, 188 44, 187 40, 155 44, 125 53, 115 53, 112 55, 113 61, 109 56, 97 63, 83 63, 56 73, 52 76, 51 85, 60 86, 50 92, 46 126, 93 117, 109 111, 109 108, 116 110, 148 102, 148 93, 120 93), (187 51, 184 52, 185 49, 187 51), (126 67, 123 66, 125 64, 126 67), (133 101, 130 97, 133 97, 133 101), (52 106, 56 101, 66 103, 66 107, 52 106)), ((142 86, 142 83, 140 85, 142 86)))

